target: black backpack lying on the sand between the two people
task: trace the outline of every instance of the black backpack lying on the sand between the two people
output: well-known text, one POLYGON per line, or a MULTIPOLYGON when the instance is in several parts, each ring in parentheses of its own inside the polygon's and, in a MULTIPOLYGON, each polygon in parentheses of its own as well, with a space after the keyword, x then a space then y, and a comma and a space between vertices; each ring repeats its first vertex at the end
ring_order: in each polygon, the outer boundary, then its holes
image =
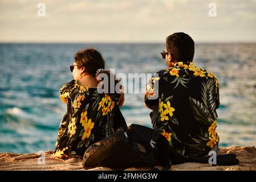
POLYGON ((162 166, 168 170, 169 142, 156 130, 132 124, 88 147, 82 164, 85 169, 162 166))

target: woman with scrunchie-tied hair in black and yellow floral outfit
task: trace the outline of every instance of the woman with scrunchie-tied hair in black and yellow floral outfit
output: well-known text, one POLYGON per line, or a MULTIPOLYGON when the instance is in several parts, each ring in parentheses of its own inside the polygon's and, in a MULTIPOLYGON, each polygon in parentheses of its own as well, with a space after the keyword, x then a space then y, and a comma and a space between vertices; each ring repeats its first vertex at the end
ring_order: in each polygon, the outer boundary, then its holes
MULTIPOLYGON (((59 90, 60 100, 67 104, 67 112, 59 126, 55 157, 83 158, 90 144, 108 137, 119 127, 127 127, 119 110, 124 102, 123 92, 98 92, 97 86, 103 81, 99 79, 100 73, 107 74, 108 78, 111 75, 104 71, 104 65, 95 49, 76 53, 74 64, 70 66, 74 80, 59 90)), ((119 80, 115 80, 116 84, 120 84, 119 80)))

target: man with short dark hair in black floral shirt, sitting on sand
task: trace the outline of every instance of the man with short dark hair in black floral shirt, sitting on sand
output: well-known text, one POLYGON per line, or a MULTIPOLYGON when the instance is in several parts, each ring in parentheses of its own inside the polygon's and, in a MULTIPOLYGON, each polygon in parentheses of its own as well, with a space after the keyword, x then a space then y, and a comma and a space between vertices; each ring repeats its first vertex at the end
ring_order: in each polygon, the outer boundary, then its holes
POLYGON ((168 68, 151 78, 145 94, 153 128, 172 145, 173 159, 193 159, 218 151, 216 76, 192 63, 194 41, 182 32, 166 38, 161 55, 168 68))

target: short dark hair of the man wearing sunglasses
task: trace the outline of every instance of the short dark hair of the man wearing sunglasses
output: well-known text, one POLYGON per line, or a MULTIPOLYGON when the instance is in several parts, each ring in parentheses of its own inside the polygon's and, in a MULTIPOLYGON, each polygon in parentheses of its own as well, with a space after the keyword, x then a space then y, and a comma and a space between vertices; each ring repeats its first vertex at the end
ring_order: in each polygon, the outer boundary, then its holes
POLYGON ((183 32, 177 32, 166 38, 166 51, 174 57, 174 62, 193 61, 194 40, 183 32))

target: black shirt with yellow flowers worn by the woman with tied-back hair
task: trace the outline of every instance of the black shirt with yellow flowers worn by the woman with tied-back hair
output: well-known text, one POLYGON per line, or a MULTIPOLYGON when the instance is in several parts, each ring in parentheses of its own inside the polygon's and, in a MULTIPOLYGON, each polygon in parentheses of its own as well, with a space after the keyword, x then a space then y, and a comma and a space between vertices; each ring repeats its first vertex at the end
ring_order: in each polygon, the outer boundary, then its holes
POLYGON ((59 92, 67 112, 59 125, 54 155, 82 158, 90 144, 113 133, 121 94, 99 94, 97 88, 79 85, 77 80, 67 82, 59 92))

